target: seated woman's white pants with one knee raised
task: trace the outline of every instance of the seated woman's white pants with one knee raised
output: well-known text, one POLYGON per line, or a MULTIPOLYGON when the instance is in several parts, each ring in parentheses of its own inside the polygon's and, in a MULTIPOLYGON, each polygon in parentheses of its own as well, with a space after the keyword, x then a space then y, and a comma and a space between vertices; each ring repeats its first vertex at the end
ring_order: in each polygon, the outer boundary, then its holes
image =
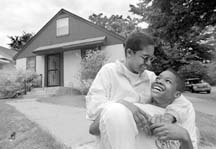
MULTIPOLYGON (((148 104, 135 104, 144 112, 163 114, 164 109, 148 104)), ((119 103, 107 106, 101 113, 99 149, 157 149, 155 138, 138 131, 129 109, 119 103)))

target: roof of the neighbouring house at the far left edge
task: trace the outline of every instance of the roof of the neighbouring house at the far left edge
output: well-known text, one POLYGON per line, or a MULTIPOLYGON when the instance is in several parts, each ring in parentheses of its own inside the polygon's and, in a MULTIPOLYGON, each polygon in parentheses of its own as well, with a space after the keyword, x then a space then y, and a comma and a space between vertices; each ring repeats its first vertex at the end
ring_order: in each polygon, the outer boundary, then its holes
POLYGON ((4 60, 7 59, 12 61, 16 53, 17 52, 14 50, 0 46, 0 59, 4 59, 4 60))

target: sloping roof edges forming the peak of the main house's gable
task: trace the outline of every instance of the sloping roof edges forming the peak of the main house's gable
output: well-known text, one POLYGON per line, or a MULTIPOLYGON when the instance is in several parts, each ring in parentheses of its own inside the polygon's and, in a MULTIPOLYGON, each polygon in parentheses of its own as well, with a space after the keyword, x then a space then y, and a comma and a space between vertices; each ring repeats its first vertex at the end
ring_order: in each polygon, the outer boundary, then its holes
POLYGON ((71 13, 71 12, 69 12, 69 11, 67 11, 67 10, 65 10, 65 9, 61 9, 55 16, 53 16, 27 43, 26 43, 26 45, 22 48, 22 50, 20 50, 15 56, 14 56, 14 59, 16 59, 19 55, 20 55, 20 53, 22 53, 22 51, 24 51, 31 43, 32 43, 32 41, 34 41, 34 39, 35 38, 37 38, 37 36, 52 22, 52 20, 54 20, 57 16, 59 16, 60 14, 62 14, 62 13, 65 13, 65 14, 68 14, 69 16, 72 16, 73 18, 76 18, 76 19, 78 19, 78 20, 80 20, 80 21, 82 21, 82 22, 84 22, 84 23, 86 23, 86 24, 88 24, 88 25, 90 25, 90 26, 92 26, 92 27, 94 27, 94 28, 96 28, 96 29, 98 29, 98 30, 100 30, 100 31, 103 31, 103 32, 105 32, 105 33, 107 33, 107 34, 109 34, 109 35, 111 35, 111 36, 113 36, 113 37, 115 37, 115 38, 117 38, 117 39, 119 39, 119 40, 121 40, 122 42, 125 40, 125 38, 124 37, 122 37, 122 36, 120 36, 120 35, 118 35, 118 34, 116 34, 116 33, 114 33, 114 32, 112 32, 112 31, 109 31, 109 30, 107 30, 107 29, 105 29, 104 27, 101 27, 101 26, 99 26, 99 25, 96 25, 96 24, 94 24, 94 23, 92 23, 92 22, 90 22, 90 21, 88 21, 88 20, 86 20, 86 19, 84 19, 84 18, 82 18, 82 17, 79 17, 79 16, 77 16, 77 15, 75 15, 75 14, 73 14, 73 13, 71 13))

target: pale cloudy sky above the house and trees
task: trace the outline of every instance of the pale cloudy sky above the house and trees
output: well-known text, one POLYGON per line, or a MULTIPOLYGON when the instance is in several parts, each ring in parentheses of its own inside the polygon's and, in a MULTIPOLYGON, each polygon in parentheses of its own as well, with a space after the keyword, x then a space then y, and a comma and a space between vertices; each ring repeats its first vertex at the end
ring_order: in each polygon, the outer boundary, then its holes
POLYGON ((61 8, 88 19, 93 13, 110 16, 128 12, 139 0, 0 0, 0 46, 9 48, 8 36, 37 33, 61 8))

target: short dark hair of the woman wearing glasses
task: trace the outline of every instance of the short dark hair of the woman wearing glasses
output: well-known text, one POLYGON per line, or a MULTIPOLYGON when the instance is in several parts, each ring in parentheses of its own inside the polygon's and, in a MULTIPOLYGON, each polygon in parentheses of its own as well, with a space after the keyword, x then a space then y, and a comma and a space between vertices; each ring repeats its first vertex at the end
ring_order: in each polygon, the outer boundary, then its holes
POLYGON ((151 36, 143 32, 132 32, 124 43, 125 53, 127 49, 131 49, 134 53, 142 50, 143 46, 154 45, 151 36))

